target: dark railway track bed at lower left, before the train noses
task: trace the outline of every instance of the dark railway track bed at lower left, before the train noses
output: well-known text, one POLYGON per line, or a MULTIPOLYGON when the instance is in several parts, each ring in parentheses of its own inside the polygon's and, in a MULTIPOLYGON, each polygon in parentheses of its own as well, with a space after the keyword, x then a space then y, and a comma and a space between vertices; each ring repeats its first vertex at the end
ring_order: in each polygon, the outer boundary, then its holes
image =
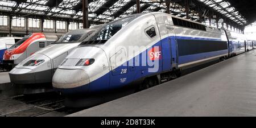
POLYGON ((0 101, 0 117, 65 116, 82 109, 67 108, 55 93, 17 95, 0 101))

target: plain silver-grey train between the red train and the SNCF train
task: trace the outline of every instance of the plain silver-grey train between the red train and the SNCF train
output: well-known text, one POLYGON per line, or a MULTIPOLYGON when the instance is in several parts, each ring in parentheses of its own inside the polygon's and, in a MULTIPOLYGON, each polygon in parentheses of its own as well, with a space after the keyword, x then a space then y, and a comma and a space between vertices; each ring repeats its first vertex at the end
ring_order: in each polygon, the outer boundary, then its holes
POLYGON ((56 68, 81 40, 92 34, 94 29, 74 30, 62 36, 57 42, 35 52, 9 72, 15 84, 36 84, 52 82, 56 68))

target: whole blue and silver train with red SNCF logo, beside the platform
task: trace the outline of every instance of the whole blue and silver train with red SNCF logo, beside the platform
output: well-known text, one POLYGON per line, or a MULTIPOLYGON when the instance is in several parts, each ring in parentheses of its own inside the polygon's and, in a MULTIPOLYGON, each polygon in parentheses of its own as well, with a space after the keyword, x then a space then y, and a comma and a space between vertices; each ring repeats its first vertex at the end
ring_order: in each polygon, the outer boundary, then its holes
POLYGON ((245 52, 246 40, 227 33, 164 13, 130 15, 105 24, 69 53, 52 85, 67 97, 133 83, 148 88, 182 69, 245 52))

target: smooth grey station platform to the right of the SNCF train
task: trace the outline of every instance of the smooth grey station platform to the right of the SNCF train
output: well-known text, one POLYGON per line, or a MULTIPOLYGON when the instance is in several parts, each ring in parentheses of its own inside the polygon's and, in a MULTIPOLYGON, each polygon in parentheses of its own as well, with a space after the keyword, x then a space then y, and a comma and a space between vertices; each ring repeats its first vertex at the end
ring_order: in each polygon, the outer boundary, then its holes
POLYGON ((68 116, 256 116, 256 51, 68 116))

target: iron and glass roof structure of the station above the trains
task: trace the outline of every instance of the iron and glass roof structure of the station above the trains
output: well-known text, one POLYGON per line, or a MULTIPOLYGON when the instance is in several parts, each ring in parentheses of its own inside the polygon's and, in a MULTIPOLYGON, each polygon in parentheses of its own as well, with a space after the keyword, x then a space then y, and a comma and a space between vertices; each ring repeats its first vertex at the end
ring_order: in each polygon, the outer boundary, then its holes
MULTIPOLYGON (((170 13, 186 18, 185 0, 170 1, 170 13)), ((141 12, 166 12, 164 0, 141 0, 141 12)), ((255 1, 240 0, 188 0, 188 18, 203 22, 212 17, 236 27, 245 27, 256 20, 255 1), (254 4, 253 4, 254 3, 254 4), (246 8, 245 8, 246 7, 246 8), (251 13, 249 13, 250 11, 251 13)), ((137 12, 136 0, 88 0, 89 22, 108 23, 137 12)), ((0 15, 32 16, 69 21, 82 20, 81 0, 1 0, 0 15)))

